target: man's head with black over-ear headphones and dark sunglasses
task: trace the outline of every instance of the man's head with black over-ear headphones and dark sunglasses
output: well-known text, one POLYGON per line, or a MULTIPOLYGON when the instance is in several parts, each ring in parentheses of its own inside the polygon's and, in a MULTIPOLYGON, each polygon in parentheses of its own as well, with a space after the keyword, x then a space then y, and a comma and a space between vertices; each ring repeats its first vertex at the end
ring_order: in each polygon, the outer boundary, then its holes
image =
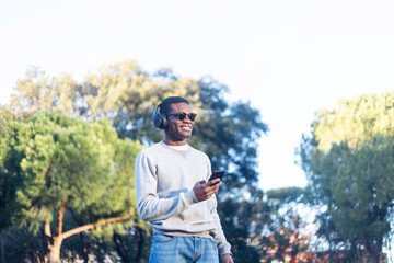
POLYGON ((153 122, 154 126, 165 130, 166 144, 183 145, 192 136, 195 117, 186 99, 170 96, 154 111, 153 122))

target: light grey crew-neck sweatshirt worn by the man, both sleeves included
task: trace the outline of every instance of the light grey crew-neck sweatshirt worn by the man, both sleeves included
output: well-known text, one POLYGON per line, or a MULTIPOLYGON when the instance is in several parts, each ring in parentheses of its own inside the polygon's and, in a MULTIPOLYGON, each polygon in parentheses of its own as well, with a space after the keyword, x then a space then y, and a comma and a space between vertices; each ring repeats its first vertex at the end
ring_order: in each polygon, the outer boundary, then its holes
POLYGON ((137 210, 153 231, 170 236, 212 238, 220 254, 230 253, 217 199, 197 202, 193 187, 208 181, 211 164, 206 153, 187 147, 176 150, 164 142, 140 151, 136 158, 137 210))

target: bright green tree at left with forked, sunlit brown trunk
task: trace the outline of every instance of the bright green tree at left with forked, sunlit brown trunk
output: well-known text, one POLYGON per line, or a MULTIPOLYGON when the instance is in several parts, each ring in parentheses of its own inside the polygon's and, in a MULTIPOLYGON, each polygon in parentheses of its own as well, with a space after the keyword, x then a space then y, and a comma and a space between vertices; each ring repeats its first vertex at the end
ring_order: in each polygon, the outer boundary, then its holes
POLYGON ((62 241, 76 233, 121 231, 116 222, 137 220, 134 159, 141 145, 118 139, 109 122, 37 115, 8 123, 0 148, 0 226, 43 230, 50 262, 59 261, 62 241), (85 225, 66 228, 66 213, 85 225))

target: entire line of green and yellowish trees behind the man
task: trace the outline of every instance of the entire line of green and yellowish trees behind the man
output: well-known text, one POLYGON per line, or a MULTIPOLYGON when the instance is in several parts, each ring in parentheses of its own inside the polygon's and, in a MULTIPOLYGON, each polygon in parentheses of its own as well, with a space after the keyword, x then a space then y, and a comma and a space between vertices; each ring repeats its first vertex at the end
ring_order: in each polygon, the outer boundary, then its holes
POLYGON ((228 171, 219 214, 236 262, 386 261, 392 94, 316 114, 299 149, 309 186, 264 193, 256 158, 268 125, 247 102, 229 103, 228 91, 209 77, 149 73, 134 61, 103 66, 83 83, 28 69, 1 111, 0 262, 147 262, 151 232, 136 213, 134 158, 162 139, 152 111, 174 94, 199 116, 189 144, 228 171), (312 236, 302 210, 316 213, 312 236))

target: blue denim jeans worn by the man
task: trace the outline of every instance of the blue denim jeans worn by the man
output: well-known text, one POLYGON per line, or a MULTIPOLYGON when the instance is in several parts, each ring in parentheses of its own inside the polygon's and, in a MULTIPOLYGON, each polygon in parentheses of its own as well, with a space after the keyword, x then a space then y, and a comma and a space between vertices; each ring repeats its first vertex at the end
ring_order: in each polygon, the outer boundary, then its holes
POLYGON ((154 233, 149 263, 219 263, 218 247, 209 238, 154 233))

